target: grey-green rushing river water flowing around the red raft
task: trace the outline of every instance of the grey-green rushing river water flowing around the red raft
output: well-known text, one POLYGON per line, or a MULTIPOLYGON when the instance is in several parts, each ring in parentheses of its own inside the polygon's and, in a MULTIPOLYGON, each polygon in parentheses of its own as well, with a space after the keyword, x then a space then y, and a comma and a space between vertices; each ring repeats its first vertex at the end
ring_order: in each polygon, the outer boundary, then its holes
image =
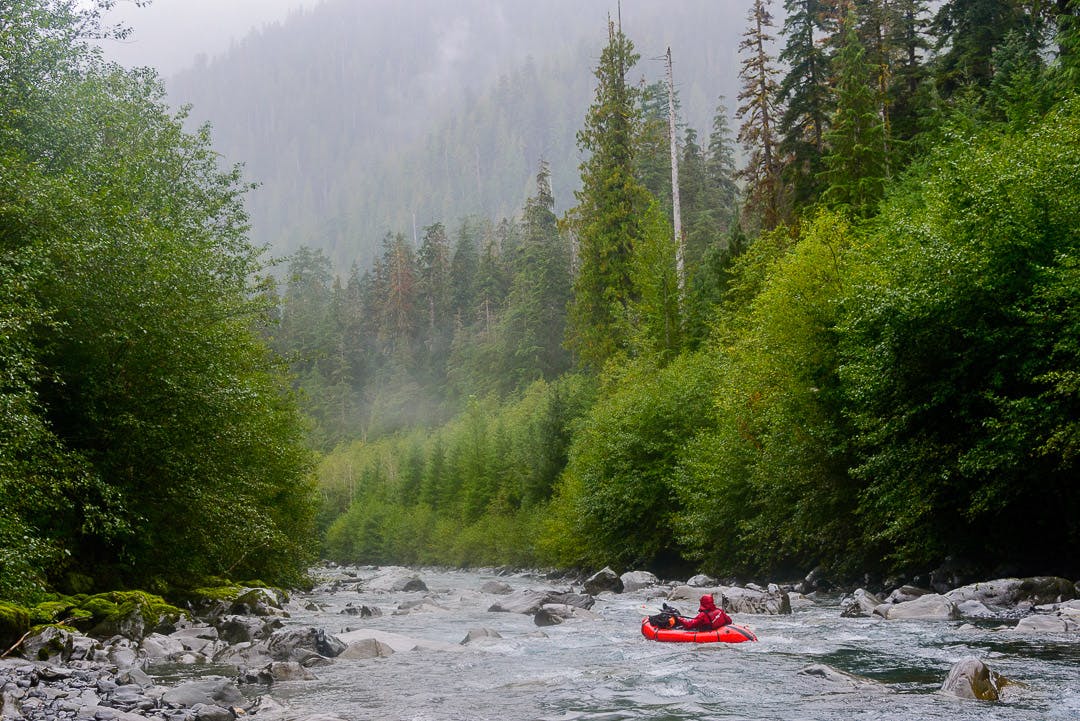
MULTIPOLYGON (((361 570, 359 580, 375 575, 361 570)), ((757 643, 658 643, 642 637, 642 616, 659 610, 656 589, 604 594, 598 621, 538 628, 532 617, 491 613, 499 597, 480 593, 492 574, 420 572, 424 593, 319 590, 298 595, 288 625, 327 632, 362 626, 454 644, 386 658, 336 659, 318 681, 274 684, 270 694, 298 717, 342 719, 775 719, 832 721, 1052 721, 1080 719, 1080 638, 1025 637, 997 625, 841 618, 838 599, 793 615, 735 614, 757 643), (395 614, 403 601, 429 598, 438 609, 395 614), (319 611, 300 610, 309 601, 319 611), (379 607, 381 616, 343 615, 347 603, 379 607), (502 638, 459 645, 470 628, 502 638), (956 662, 975 656, 1023 685, 999 703, 937 693, 956 662), (878 683, 858 690, 800 675, 827 664, 878 683)), ((551 588, 537 577, 498 577, 518 588, 551 588)), ((324 587, 325 588, 325 587, 324 587)), ((689 606, 684 610, 692 610, 689 606)), ((256 691, 256 690, 253 690, 256 691)), ((265 690, 262 690, 265 692, 265 690)))

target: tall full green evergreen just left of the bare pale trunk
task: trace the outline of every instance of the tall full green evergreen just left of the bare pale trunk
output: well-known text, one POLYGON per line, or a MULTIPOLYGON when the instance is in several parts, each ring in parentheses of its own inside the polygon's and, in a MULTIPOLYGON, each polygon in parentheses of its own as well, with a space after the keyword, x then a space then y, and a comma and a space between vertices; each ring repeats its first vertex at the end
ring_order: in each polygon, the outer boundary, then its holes
POLYGON ((626 82, 634 45, 608 22, 596 68, 596 97, 578 133, 581 190, 569 223, 578 241, 578 274, 568 342, 584 365, 599 367, 626 344, 625 309, 633 298, 630 262, 640 237, 648 192, 635 178, 638 92, 626 82))

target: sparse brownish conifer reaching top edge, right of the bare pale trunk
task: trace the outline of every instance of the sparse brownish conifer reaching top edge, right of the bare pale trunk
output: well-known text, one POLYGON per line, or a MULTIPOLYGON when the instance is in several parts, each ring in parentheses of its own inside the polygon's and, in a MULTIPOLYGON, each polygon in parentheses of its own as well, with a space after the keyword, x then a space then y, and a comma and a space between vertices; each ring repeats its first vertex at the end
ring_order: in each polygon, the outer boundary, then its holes
POLYGON ((772 0, 754 0, 751 8, 750 25, 739 43, 743 55, 739 69, 742 91, 739 93, 739 110, 735 115, 743 121, 739 128, 739 142, 746 151, 746 165, 740 175, 746 180, 746 210, 762 228, 772 228, 780 222, 781 187, 780 158, 778 155, 777 121, 779 70, 769 54, 773 37, 770 6, 772 0))

